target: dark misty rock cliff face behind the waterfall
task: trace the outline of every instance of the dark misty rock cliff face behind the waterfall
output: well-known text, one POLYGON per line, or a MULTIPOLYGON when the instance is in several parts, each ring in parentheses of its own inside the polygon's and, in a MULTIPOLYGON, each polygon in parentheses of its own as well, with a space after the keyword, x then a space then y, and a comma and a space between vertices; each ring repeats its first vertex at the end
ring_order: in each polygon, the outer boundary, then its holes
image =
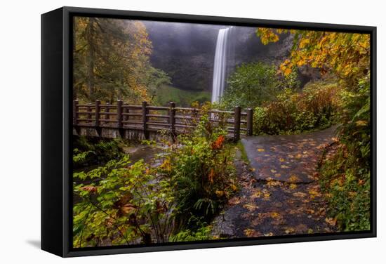
MULTIPOLYGON (((189 91, 211 91, 218 30, 222 25, 145 21, 154 67, 172 78, 173 86, 189 91)), ((293 37, 263 45, 255 27, 232 27, 229 37, 228 73, 244 62, 265 61, 279 65, 289 55, 293 37)))

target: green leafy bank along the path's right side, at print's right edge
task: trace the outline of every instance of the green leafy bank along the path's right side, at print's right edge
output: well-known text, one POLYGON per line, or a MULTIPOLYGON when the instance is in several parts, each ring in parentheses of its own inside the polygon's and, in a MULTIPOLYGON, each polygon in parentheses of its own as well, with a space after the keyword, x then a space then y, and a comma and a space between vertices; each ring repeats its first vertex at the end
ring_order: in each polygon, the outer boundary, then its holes
POLYGON ((338 150, 322 164, 321 185, 329 216, 345 231, 369 230, 371 124, 369 77, 354 91, 343 91, 338 150))

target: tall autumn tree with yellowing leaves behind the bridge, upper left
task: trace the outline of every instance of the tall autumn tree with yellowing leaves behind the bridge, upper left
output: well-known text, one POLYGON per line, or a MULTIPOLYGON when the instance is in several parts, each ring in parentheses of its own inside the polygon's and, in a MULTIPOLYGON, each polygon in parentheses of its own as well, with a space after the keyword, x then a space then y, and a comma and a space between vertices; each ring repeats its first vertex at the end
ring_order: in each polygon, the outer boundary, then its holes
POLYGON ((74 18, 74 97, 151 100, 170 78, 149 62, 152 43, 134 20, 74 18))

